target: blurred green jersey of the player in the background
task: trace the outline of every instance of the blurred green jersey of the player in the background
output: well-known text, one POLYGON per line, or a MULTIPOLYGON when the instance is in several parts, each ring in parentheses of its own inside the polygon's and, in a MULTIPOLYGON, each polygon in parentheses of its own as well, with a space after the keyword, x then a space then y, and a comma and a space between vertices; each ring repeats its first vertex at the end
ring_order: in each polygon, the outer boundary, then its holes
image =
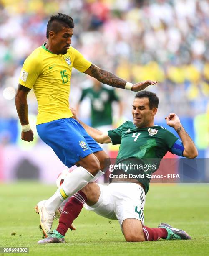
POLYGON ((85 97, 89 97, 91 100, 91 126, 111 125, 113 122, 112 102, 119 101, 115 91, 105 87, 96 91, 90 87, 82 91, 80 102, 85 97))

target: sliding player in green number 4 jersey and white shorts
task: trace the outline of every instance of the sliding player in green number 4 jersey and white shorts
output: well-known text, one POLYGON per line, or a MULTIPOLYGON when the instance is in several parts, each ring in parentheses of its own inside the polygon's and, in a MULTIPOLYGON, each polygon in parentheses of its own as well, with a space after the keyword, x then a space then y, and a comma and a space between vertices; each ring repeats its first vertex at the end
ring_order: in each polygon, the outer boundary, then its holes
MULTIPOLYGON (((99 143, 120 144, 118 163, 130 158, 138 159, 140 163, 153 158, 161 160, 167 151, 187 158, 196 157, 197 149, 175 113, 170 113, 166 117, 166 122, 174 128, 181 140, 166 128, 154 125, 158 103, 155 93, 138 92, 133 101, 133 122, 127 121, 117 129, 106 133, 79 122, 99 143)), ((129 169, 127 173, 131 174, 132 170, 129 169)), ((108 186, 89 183, 82 189, 82 197, 76 193, 66 203, 58 228, 48 238, 38 243, 63 242, 65 233, 85 203, 86 209, 109 219, 117 219, 128 242, 156 241, 160 238, 191 239, 185 231, 166 223, 161 223, 158 228, 144 225, 143 211, 148 189, 149 180, 140 177, 137 179, 113 177, 108 186)))

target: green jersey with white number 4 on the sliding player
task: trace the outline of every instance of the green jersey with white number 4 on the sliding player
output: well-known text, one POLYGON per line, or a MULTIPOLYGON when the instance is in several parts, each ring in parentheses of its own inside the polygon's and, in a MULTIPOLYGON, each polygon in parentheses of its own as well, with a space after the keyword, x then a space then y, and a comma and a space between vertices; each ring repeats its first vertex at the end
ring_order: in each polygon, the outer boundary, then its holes
MULTIPOLYGON (((160 164, 161 159, 171 150, 175 141, 179 139, 173 133, 162 126, 152 126, 146 128, 138 128, 133 122, 127 121, 117 129, 109 130, 108 136, 111 138, 112 144, 120 144, 116 164, 126 164, 123 172, 126 174, 136 175, 136 179, 144 185, 145 193, 149 190, 150 179, 140 178, 138 174, 151 174, 155 172, 160 164), (150 164, 154 168, 134 169, 131 164, 143 166, 150 164), (129 167, 128 167, 128 164, 129 167), (138 176, 138 177, 137 177, 138 176)), ((121 169, 120 169, 121 170, 121 169)), ((118 171, 113 171, 118 173, 118 171)), ((131 175, 128 175, 131 176, 131 175)), ((135 178, 134 177, 134 178, 135 178)))

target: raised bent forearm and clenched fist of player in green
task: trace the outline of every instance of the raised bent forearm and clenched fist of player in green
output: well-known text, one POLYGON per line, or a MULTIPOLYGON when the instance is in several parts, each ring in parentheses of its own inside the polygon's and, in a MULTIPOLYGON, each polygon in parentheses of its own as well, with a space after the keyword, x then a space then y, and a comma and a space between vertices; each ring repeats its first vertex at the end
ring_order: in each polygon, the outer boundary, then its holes
POLYGON ((195 158, 198 155, 198 151, 194 142, 190 138, 189 134, 185 131, 184 127, 180 123, 179 117, 175 113, 170 113, 166 118, 167 125, 173 127, 179 134, 184 146, 183 156, 188 158, 195 158))

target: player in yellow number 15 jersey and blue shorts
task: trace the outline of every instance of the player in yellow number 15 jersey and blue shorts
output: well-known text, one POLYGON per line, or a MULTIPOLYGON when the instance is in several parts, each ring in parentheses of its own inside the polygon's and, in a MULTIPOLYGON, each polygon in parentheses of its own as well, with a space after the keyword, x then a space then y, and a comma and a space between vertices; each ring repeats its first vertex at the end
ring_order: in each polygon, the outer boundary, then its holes
POLYGON ((47 24, 47 43, 35 49, 25 60, 15 97, 22 140, 33 141, 27 105, 27 94, 33 88, 38 101, 38 135, 68 168, 74 164, 78 166, 52 197, 38 203, 44 233, 50 232, 53 215, 60 203, 100 177, 104 159, 108 158, 96 141, 72 118, 68 102, 72 68, 104 84, 135 92, 157 84, 150 80, 131 84, 87 61, 79 51, 70 47, 73 28, 70 16, 61 13, 51 16, 47 24))

